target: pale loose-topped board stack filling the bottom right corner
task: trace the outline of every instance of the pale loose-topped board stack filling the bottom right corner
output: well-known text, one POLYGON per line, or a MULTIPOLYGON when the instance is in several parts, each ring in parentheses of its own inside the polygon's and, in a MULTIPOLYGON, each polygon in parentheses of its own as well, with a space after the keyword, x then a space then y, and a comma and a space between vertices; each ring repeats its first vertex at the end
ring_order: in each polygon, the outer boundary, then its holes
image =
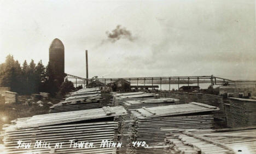
POLYGON ((256 153, 256 127, 216 130, 173 129, 166 134, 164 153, 256 153))

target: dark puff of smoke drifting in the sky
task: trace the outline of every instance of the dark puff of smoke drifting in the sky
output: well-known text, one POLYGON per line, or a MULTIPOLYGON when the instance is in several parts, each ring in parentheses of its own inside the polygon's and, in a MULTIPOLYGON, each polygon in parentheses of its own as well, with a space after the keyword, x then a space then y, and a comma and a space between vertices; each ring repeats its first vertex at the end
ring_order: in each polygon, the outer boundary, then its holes
POLYGON ((108 36, 108 40, 112 43, 115 43, 117 40, 123 38, 123 39, 128 39, 131 42, 133 42, 133 40, 135 40, 134 37, 132 37, 132 34, 130 31, 126 30, 125 27, 121 27, 120 25, 117 26, 117 28, 115 28, 112 33, 110 32, 106 32, 107 36, 108 36))

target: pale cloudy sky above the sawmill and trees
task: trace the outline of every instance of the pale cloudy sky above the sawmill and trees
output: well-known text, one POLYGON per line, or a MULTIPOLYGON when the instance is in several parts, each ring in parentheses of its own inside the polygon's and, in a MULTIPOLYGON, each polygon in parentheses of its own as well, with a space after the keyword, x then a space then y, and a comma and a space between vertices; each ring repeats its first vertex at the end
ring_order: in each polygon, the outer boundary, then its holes
POLYGON ((65 72, 89 78, 215 75, 256 79, 254 0, 4 1, 0 63, 8 54, 49 61, 65 46, 65 72))

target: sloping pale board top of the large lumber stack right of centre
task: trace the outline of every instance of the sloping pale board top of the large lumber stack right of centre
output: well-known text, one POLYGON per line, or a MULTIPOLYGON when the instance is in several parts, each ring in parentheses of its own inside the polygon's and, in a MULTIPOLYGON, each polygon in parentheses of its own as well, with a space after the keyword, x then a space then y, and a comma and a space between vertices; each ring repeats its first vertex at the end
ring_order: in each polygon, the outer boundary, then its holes
POLYGON ((141 117, 159 117, 193 114, 198 112, 208 112, 219 110, 216 106, 206 105, 202 103, 191 102, 189 104, 158 106, 153 108, 137 109, 141 117))

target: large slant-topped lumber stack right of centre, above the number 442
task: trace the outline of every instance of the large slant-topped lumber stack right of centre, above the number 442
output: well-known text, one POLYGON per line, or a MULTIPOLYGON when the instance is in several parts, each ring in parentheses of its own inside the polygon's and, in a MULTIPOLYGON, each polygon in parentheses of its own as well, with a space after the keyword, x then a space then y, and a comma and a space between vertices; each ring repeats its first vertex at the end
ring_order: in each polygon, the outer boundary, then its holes
POLYGON ((158 106, 131 111, 129 153, 163 153, 166 131, 160 128, 210 129, 213 127, 215 106, 202 103, 158 106), (145 141, 145 147, 133 146, 133 141, 145 141))

